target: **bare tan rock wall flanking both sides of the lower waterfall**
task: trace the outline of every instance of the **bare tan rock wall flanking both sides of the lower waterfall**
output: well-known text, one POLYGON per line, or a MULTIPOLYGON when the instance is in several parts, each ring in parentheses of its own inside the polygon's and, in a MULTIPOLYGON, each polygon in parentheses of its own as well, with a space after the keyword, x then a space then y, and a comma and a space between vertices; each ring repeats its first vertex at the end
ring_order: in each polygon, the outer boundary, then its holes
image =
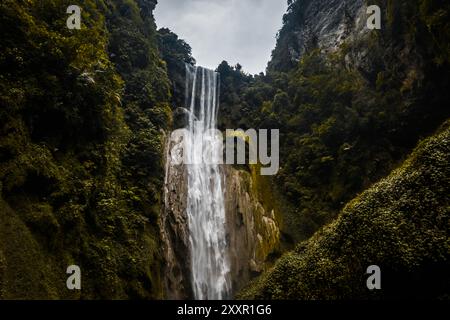
MULTIPOLYGON (((186 167, 173 165, 180 163, 181 144, 182 140, 168 138, 165 206, 159 223, 165 258, 166 296, 170 299, 192 298, 186 167)), ((236 292, 252 276, 267 268, 270 254, 279 245, 280 231, 274 210, 267 211, 259 201, 250 173, 222 166, 222 175, 226 238, 232 288, 236 292)))

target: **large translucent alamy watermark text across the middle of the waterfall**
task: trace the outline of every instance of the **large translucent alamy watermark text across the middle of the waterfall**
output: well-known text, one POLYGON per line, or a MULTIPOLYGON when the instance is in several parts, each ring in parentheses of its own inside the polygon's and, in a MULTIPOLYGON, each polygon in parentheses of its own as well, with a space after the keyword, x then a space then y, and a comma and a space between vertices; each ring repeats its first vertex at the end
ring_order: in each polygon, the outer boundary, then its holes
MULTIPOLYGON (((171 134, 171 141, 174 142, 171 150, 172 155, 178 155, 172 158, 174 165, 218 165, 218 164, 260 164, 260 173, 263 176, 277 174, 280 167, 280 131, 278 129, 227 129, 225 131, 225 139, 218 129, 206 130, 203 140, 208 140, 209 144, 214 145, 216 151, 214 155, 211 152, 202 152, 202 155, 192 156, 189 152, 189 139, 192 139, 192 133, 188 129, 177 129, 171 134), (270 147, 269 147, 270 135, 270 147), (225 141, 225 157, 224 142, 225 141), (248 155, 248 156, 247 156, 248 155), (225 161, 224 161, 225 158, 225 161)), ((202 141, 191 141, 194 143, 202 143, 202 141)))

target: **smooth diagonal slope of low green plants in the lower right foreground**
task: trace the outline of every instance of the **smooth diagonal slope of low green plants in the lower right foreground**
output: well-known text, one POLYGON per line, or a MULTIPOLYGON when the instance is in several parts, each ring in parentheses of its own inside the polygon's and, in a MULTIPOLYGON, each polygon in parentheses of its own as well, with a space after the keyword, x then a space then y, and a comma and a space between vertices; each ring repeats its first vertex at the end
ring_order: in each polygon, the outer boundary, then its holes
POLYGON ((450 122, 240 298, 448 298, 450 122), (381 268, 368 290, 367 267, 381 268))

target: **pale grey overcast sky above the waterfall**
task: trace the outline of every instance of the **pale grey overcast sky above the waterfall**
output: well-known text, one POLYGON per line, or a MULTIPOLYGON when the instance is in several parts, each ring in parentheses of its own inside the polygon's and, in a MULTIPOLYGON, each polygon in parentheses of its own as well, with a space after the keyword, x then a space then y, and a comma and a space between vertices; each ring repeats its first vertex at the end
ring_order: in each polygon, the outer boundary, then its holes
POLYGON ((197 65, 227 60, 256 74, 266 69, 286 9, 287 0, 158 0, 155 18, 192 47, 197 65))

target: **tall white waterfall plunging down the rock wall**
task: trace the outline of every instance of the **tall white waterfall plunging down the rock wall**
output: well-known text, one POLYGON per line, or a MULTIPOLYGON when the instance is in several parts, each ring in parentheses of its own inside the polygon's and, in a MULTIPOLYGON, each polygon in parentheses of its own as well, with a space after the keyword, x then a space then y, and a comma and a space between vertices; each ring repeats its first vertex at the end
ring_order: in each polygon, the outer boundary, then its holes
POLYGON ((219 75, 186 65, 186 106, 189 107, 187 216, 191 249, 192 287, 196 299, 230 296, 223 175, 219 159, 222 141, 214 134, 218 113, 219 75))

